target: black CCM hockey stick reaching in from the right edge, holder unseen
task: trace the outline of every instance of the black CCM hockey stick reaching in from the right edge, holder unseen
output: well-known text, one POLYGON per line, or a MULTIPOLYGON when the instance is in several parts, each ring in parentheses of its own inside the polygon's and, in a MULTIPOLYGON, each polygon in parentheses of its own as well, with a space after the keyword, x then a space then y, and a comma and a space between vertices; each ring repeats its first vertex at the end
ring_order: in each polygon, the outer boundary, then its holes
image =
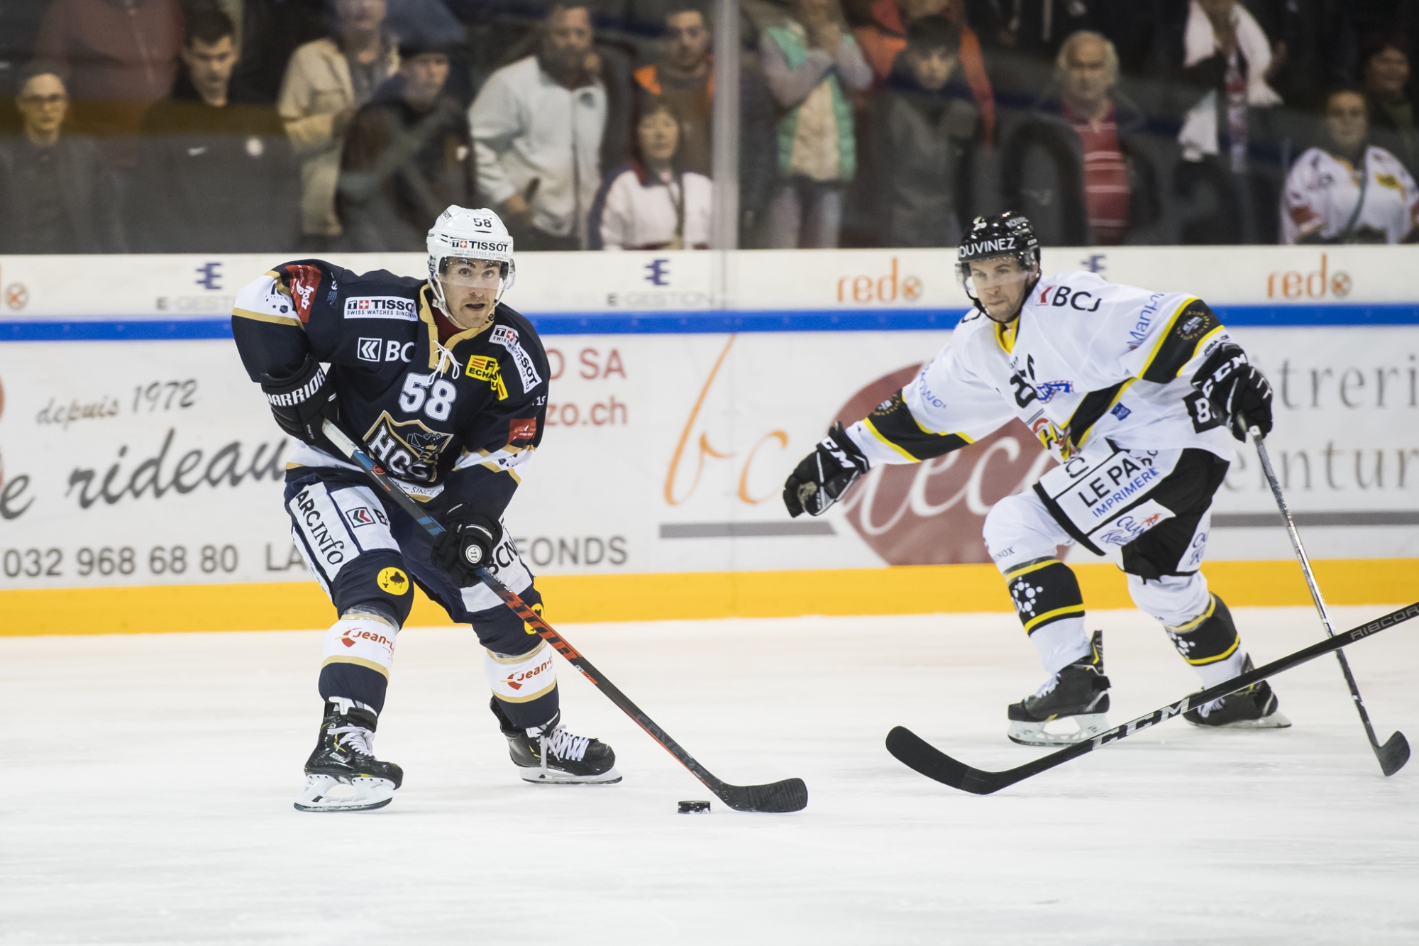
POLYGON ((1016 766, 1015 768, 1006 768, 1005 771, 983 771, 981 768, 972 768, 971 766, 946 756, 931 743, 902 726, 898 726, 887 733, 887 751, 895 756, 900 761, 905 763, 908 767, 920 771, 927 778, 935 778, 937 781, 951 785, 952 788, 969 791, 976 795, 989 795, 992 791, 999 791, 1000 788, 1013 785, 1015 783, 1023 781, 1030 776, 1037 776, 1042 771, 1054 768, 1056 766, 1063 766, 1069 760, 1077 759, 1084 753, 1091 753, 1101 746, 1112 746, 1118 740, 1127 739, 1128 736, 1161 723, 1172 716, 1182 716, 1188 710, 1202 706, 1208 700, 1215 700, 1219 696, 1243 690, 1257 680, 1263 680, 1283 670, 1290 670, 1293 666, 1300 666, 1301 663, 1314 660, 1323 653, 1330 653, 1331 651, 1338 652, 1348 643, 1354 643, 1361 638, 1368 638, 1369 635, 1378 634, 1385 628, 1392 628, 1396 624, 1403 624, 1415 616, 1419 616, 1419 602, 1415 602, 1408 608, 1401 608, 1399 611, 1392 611, 1384 618, 1376 618, 1375 621, 1362 624, 1340 636, 1321 641, 1320 643, 1313 643, 1311 646, 1297 651, 1290 656, 1284 656, 1280 660, 1271 660, 1270 663, 1259 666, 1254 670, 1249 670, 1242 676, 1235 676, 1230 680, 1218 683, 1216 686, 1209 686, 1200 693, 1193 693, 1192 696, 1183 697, 1171 706, 1164 706, 1162 709, 1139 716, 1138 719, 1124 723, 1122 726, 1105 730, 1094 739, 1066 746, 1064 749, 1050 753, 1049 756, 1042 756, 1034 761, 1016 766))

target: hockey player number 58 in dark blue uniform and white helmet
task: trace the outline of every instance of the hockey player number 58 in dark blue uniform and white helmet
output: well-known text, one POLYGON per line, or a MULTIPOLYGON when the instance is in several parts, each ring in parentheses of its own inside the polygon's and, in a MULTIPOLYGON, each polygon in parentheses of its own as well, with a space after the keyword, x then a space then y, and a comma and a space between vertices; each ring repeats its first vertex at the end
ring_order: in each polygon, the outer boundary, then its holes
POLYGON ((291 533, 338 615, 302 811, 377 808, 403 778, 372 741, 413 585, 471 624, 487 649, 492 713, 522 778, 620 781, 609 746, 562 726, 552 648, 468 564, 485 562, 541 608, 502 524, 517 467, 542 442, 549 378, 532 325, 499 301, 515 274, 498 216, 448 207, 429 232, 427 280, 297 260, 237 294, 241 361, 299 440, 287 470, 291 533), (326 419, 365 442, 448 531, 430 540, 376 494, 322 436, 326 419))

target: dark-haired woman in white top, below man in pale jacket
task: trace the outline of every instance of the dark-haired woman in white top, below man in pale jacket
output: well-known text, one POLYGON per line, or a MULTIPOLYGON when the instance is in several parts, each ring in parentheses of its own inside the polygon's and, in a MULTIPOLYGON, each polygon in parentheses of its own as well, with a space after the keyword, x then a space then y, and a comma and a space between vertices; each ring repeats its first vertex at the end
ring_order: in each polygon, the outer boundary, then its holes
POLYGON ((712 185, 683 170, 680 122, 661 98, 641 102, 631 162, 606 176, 592 205, 593 250, 707 250, 712 185))

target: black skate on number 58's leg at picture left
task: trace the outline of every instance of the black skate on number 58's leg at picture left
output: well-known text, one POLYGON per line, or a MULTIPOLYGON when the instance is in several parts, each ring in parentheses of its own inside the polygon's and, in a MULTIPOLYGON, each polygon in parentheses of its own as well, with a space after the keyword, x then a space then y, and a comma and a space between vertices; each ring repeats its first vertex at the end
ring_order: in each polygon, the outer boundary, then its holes
POLYGON ((297 811, 366 811, 393 801, 404 770, 375 759, 375 710, 341 697, 325 703, 319 741, 305 760, 297 811))

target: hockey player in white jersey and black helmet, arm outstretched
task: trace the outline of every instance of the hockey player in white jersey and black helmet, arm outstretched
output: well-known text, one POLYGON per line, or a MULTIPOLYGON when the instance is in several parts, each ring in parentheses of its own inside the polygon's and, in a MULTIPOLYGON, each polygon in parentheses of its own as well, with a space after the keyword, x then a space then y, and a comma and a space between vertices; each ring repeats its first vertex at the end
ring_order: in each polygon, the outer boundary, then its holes
MULTIPOLYGON (((799 463, 783 490, 789 513, 819 516, 878 463, 941 456, 1019 418, 1060 466, 985 521, 986 547, 1049 673, 1009 706, 1009 737, 1067 744, 1108 726, 1100 635, 1084 631, 1084 599, 1060 545, 1121 550, 1134 602, 1205 687, 1250 669, 1226 604, 1198 568, 1233 437, 1271 429, 1266 378, 1195 295, 1083 271, 1043 278, 1025 216, 976 217, 958 261, 976 311, 915 381, 846 430, 836 425, 799 463)), ((1290 726, 1266 682, 1186 719, 1290 726)))

